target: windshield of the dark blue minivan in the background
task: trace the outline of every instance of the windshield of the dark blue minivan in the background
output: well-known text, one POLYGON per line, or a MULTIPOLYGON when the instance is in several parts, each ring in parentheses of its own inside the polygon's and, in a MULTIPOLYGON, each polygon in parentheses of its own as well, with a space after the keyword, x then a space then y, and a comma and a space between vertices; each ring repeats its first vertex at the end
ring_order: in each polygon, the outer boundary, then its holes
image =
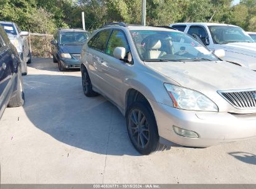
POLYGON ((87 39, 86 32, 65 32, 60 35, 60 45, 83 45, 87 39))

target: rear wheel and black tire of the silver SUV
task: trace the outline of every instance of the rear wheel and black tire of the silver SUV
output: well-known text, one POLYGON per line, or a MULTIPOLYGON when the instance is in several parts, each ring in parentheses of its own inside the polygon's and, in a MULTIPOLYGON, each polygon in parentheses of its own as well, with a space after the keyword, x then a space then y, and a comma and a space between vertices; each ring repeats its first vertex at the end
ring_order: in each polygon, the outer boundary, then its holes
POLYGON ((83 93, 85 96, 92 97, 97 96, 98 93, 92 90, 92 82, 90 80, 90 76, 85 68, 82 68, 82 86, 83 86, 83 93))

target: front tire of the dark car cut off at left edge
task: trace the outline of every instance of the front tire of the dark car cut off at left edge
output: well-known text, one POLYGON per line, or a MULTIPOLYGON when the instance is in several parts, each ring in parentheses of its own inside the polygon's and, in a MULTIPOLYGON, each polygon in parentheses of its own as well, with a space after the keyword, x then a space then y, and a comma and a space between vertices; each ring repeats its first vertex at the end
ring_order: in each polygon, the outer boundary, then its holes
MULTIPOLYGON (((20 69, 20 68, 19 68, 20 69)), ((23 106, 25 103, 25 94, 23 90, 23 82, 21 77, 21 70, 19 70, 18 76, 17 76, 17 90, 14 91, 14 95, 9 101, 8 107, 14 108, 23 106)))

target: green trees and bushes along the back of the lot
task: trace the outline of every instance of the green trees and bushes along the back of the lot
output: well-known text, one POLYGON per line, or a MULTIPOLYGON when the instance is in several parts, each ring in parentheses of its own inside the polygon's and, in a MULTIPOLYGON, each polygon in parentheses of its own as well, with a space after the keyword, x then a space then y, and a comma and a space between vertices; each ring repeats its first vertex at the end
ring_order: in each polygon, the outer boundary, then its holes
MULTIPOLYGON (((21 29, 52 34, 57 28, 87 30, 108 22, 140 24, 141 0, 0 0, 0 20, 16 22, 21 29)), ((147 25, 174 22, 221 22, 256 31, 256 0, 147 0, 147 25)))

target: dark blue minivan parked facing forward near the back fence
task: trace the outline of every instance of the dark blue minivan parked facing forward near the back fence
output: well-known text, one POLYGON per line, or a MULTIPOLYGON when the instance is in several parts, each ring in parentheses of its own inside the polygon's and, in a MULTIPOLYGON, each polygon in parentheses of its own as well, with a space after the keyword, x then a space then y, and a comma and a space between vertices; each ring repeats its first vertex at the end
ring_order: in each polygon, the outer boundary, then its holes
POLYGON ((58 63, 59 70, 80 68, 81 50, 90 33, 82 29, 58 30, 52 44, 52 57, 58 63))

